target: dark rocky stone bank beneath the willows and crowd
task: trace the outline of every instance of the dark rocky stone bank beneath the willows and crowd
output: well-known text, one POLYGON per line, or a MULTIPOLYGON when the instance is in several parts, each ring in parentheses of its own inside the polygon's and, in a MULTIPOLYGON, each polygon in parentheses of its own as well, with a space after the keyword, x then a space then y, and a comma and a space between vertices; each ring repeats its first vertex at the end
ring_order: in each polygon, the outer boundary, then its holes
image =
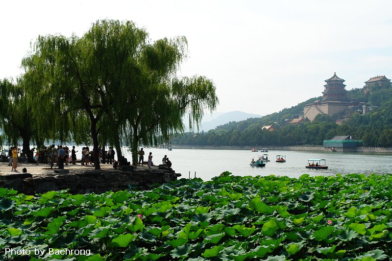
MULTIPOLYGON (((22 167, 18 166, 18 169, 22 170, 22 167)), ((174 181, 181 176, 164 165, 153 166, 151 169, 141 166, 133 169, 131 166, 125 166, 123 169, 102 168, 95 170, 77 166, 77 170, 74 171, 45 168, 44 170, 46 170, 44 173, 39 174, 31 174, 28 171, 27 173, 2 174, 0 188, 17 190, 19 193, 27 195, 66 189, 73 194, 102 193, 110 190, 127 190, 130 186, 145 189, 149 184, 163 184, 174 181)))

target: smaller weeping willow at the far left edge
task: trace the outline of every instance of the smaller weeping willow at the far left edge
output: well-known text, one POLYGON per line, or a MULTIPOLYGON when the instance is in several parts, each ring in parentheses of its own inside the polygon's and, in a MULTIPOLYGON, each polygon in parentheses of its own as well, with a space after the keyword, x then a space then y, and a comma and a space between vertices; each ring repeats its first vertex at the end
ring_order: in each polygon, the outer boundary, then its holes
POLYGON ((8 144, 19 145, 22 140, 23 152, 28 161, 34 162, 30 142, 40 137, 38 125, 32 114, 33 103, 25 92, 24 78, 14 84, 7 79, 0 80, 0 128, 8 144))

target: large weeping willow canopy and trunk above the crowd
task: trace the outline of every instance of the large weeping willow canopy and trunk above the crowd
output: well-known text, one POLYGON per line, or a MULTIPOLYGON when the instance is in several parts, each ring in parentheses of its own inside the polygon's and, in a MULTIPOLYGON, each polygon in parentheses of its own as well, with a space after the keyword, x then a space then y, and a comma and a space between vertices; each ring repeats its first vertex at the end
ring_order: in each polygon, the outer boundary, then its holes
POLYGON ((38 37, 23 66, 41 81, 30 92, 55 104, 53 127, 76 143, 93 142, 98 169, 98 143, 115 144, 118 155, 128 145, 136 156, 141 142, 182 131, 186 112, 197 125, 204 109, 215 109, 212 81, 176 79, 186 52, 184 37, 149 43, 132 22, 103 20, 81 38, 38 37))

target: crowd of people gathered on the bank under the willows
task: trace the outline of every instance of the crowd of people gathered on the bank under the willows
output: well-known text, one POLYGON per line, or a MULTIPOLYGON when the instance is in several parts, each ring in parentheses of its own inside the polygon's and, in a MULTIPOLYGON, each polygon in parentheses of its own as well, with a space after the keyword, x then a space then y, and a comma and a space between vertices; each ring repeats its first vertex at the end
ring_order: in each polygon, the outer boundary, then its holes
MULTIPOLYGON (((128 162, 128 160, 124 156, 120 157, 116 161, 116 152, 113 147, 109 147, 108 150, 104 150, 101 146, 98 146, 98 150, 99 162, 101 164, 111 164, 114 168, 131 165, 131 163, 128 162)), ((8 166, 12 166, 11 171, 17 171, 18 156, 25 156, 25 153, 21 153, 21 149, 17 146, 10 147, 8 151, 9 152, 7 157, 9 157, 10 159, 8 166)), ((52 166, 56 165, 59 169, 63 169, 64 165, 68 164, 76 165, 76 152, 78 151, 75 150, 75 146, 72 146, 72 149, 70 149, 68 146, 63 147, 62 145, 58 145, 56 147, 54 144, 52 144, 51 146, 44 147, 42 149, 32 148, 29 151, 31 155, 34 155, 33 160, 35 162, 35 165, 51 164, 52 166)), ((143 150, 143 148, 140 149, 138 154, 139 161, 133 161, 133 165, 135 168, 140 165, 144 166, 146 163, 144 161, 145 151, 143 150)), ((94 162, 94 149, 90 150, 88 146, 83 147, 81 151, 80 164, 82 166, 94 166, 94 162)), ((172 162, 169 160, 169 157, 167 157, 167 155, 163 157, 162 165, 166 165, 170 168, 172 167, 172 162)), ((147 166, 148 168, 151 168, 151 166, 153 166, 152 152, 149 152, 148 154, 147 166)))

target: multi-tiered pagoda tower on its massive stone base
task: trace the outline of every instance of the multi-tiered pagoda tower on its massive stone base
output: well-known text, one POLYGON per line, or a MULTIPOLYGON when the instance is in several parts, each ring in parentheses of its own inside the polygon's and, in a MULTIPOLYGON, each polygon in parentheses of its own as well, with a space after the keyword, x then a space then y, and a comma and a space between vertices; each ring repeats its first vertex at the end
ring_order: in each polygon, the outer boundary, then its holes
POLYGON ((303 118, 313 121, 319 114, 326 114, 333 117, 350 107, 362 106, 362 103, 357 102, 356 99, 348 100, 345 84, 343 83, 344 80, 339 78, 336 72, 331 78, 325 80, 325 82, 321 99, 305 105, 303 118))

